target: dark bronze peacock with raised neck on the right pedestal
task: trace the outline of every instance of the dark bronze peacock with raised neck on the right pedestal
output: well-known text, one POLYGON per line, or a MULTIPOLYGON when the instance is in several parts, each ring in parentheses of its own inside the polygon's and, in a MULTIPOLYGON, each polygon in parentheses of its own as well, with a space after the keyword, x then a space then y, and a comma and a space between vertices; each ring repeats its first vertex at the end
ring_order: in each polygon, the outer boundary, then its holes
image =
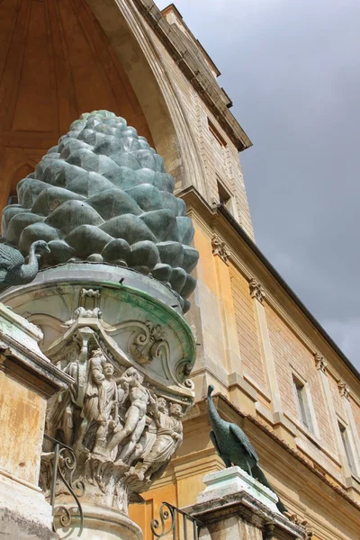
MULTIPOLYGON (((211 392, 213 392, 213 390, 214 387, 209 385, 207 401, 212 428, 210 438, 213 446, 215 446, 216 452, 220 455, 220 458, 226 467, 238 465, 238 467, 246 471, 250 476, 256 478, 258 482, 265 485, 266 488, 275 492, 267 481, 266 475, 258 466, 257 453, 243 430, 236 424, 226 422, 220 418, 215 404, 212 401, 211 392)), ((276 506, 282 513, 287 511, 280 499, 276 506)))

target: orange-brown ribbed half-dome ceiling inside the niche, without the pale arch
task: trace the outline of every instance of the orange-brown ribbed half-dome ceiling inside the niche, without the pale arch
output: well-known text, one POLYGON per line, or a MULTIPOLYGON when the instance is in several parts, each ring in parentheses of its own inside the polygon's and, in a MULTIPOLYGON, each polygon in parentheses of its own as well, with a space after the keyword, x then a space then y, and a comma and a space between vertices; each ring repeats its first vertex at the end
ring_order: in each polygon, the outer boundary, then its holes
POLYGON ((123 116, 153 145, 129 78, 85 0, 0 2, 0 209, 23 170, 94 109, 123 116))

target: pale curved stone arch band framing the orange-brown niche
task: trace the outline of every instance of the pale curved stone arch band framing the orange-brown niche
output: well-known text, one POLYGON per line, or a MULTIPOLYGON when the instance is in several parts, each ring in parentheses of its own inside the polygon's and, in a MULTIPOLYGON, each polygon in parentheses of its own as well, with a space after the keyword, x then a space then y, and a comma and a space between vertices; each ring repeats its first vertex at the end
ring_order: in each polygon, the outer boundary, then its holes
MULTIPOLYGON (((183 106, 166 72, 139 10, 117 0, 87 0, 112 48, 121 60, 148 121, 157 153, 166 171, 184 188, 205 177, 202 160, 187 125, 183 106)), ((203 185, 204 193, 207 186, 203 185)))

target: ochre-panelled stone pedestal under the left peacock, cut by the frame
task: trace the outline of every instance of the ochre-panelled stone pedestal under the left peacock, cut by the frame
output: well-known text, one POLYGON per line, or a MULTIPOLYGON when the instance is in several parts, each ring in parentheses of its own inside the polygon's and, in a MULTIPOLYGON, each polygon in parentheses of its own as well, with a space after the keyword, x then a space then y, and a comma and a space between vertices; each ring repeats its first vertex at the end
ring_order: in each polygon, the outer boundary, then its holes
POLYGON ((40 352, 40 329, 0 303, 0 538, 42 540, 52 532, 38 487, 47 399, 72 378, 40 352))

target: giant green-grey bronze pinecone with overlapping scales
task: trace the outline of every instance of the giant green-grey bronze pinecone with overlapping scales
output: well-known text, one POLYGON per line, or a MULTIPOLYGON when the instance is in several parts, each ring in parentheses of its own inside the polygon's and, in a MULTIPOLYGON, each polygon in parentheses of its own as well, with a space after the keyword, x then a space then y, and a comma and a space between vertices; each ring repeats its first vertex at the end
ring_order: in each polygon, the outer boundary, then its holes
POLYGON ((87 259, 148 274, 165 264, 157 279, 185 298, 197 251, 189 247, 193 225, 173 189, 162 157, 123 118, 86 113, 18 184, 21 204, 4 209, 4 238, 25 256, 36 239, 49 242, 44 267, 87 259), (113 239, 127 244, 120 248, 113 239))

